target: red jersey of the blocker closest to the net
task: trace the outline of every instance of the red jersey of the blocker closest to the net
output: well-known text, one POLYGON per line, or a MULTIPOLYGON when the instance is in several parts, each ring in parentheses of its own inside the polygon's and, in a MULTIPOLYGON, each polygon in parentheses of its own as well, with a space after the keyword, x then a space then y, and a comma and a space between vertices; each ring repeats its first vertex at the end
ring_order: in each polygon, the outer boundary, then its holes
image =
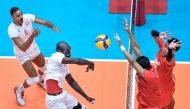
POLYGON ((138 109, 161 109, 161 91, 159 77, 152 67, 150 70, 144 69, 144 77, 137 74, 136 81, 138 84, 137 100, 138 109))

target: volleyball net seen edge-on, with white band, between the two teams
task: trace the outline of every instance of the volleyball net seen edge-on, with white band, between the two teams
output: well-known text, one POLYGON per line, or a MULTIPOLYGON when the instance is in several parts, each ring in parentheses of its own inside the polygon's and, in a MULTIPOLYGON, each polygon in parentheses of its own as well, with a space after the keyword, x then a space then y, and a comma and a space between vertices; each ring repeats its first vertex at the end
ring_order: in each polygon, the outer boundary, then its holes
MULTIPOLYGON (((135 35, 135 26, 136 26, 136 12, 137 12, 137 3, 138 0, 131 0, 131 16, 130 16, 130 29, 133 35, 135 35)), ((131 42, 129 40, 128 52, 134 56, 133 50, 131 48, 131 42)), ((126 105, 125 109, 134 109, 135 105, 135 70, 128 63, 127 67, 127 80, 126 80, 126 105)))

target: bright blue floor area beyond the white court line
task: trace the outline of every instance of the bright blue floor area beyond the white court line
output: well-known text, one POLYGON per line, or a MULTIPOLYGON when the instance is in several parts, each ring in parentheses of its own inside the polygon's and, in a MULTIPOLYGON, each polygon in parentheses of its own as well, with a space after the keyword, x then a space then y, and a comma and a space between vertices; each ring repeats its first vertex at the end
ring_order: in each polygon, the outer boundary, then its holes
MULTIPOLYGON (((7 34, 11 23, 9 10, 12 6, 20 7, 23 13, 32 13, 37 17, 54 23, 61 33, 40 25, 41 34, 36 41, 47 57, 55 50, 58 41, 65 40, 72 46, 72 56, 95 59, 125 59, 117 42, 113 38, 118 32, 126 48, 128 36, 123 29, 122 20, 129 14, 110 14, 109 0, 1 0, 0 6, 0 56, 14 56, 13 44, 7 34), (111 39, 109 49, 101 51, 95 47, 94 40, 99 34, 107 34, 111 39)), ((150 36, 151 29, 170 31, 182 41, 182 47, 176 54, 178 61, 190 61, 190 44, 188 21, 190 13, 189 0, 168 0, 168 10, 165 15, 146 15, 144 26, 136 27, 135 36, 140 43, 143 54, 155 59, 158 47, 150 36)))

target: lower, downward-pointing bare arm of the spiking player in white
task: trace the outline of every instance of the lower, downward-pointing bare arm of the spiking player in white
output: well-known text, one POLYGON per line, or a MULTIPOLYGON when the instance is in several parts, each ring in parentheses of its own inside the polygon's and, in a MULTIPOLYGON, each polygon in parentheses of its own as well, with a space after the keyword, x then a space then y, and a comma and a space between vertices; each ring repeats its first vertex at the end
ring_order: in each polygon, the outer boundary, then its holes
POLYGON ((68 74, 66 77, 66 81, 68 84, 76 91, 78 92, 81 96, 83 96, 89 103, 93 104, 95 99, 89 97, 78 85, 78 83, 74 80, 71 74, 68 74))

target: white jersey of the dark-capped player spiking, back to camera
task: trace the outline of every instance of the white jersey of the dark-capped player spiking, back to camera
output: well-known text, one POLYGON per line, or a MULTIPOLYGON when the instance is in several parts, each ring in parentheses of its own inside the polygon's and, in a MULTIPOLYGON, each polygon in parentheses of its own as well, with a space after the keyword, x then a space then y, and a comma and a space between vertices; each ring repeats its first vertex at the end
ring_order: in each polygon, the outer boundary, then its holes
POLYGON ((68 65, 61 63, 64 57, 63 53, 53 53, 48 60, 47 70, 45 71, 45 81, 48 79, 57 80, 59 87, 62 89, 64 89, 65 76, 70 73, 68 65))

